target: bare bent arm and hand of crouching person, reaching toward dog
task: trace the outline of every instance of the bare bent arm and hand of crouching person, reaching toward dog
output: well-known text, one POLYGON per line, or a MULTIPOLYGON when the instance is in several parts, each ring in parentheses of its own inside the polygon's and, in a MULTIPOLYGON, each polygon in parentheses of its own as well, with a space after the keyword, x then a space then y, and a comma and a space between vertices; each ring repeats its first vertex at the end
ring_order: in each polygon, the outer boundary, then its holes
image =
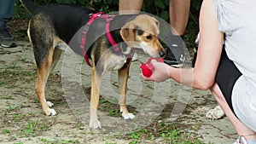
POLYGON ((201 39, 195 68, 174 68, 154 62, 152 77, 143 78, 156 82, 172 78, 196 89, 209 89, 215 82, 224 39, 224 33, 218 31, 218 20, 212 0, 203 1, 200 24, 201 39))

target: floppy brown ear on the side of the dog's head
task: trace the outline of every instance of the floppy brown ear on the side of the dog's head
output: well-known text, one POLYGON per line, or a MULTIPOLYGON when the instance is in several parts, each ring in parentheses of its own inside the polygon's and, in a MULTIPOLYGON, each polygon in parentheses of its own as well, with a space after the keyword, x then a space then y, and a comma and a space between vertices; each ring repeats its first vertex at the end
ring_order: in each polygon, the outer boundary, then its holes
POLYGON ((132 48, 135 42, 135 29, 137 25, 134 22, 128 22, 120 30, 120 35, 125 43, 132 48))

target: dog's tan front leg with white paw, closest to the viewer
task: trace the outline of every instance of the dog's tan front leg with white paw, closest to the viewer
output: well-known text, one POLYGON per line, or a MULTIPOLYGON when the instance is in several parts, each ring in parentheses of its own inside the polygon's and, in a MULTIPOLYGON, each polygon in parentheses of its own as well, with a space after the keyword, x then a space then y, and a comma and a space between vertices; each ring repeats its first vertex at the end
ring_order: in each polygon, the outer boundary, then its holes
POLYGON ((97 110, 99 108, 100 101, 100 85, 102 74, 96 72, 96 67, 92 67, 92 79, 91 79, 91 91, 90 91, 90 128, 98 129, 102 128, 101 122, 97 117, 97 110))

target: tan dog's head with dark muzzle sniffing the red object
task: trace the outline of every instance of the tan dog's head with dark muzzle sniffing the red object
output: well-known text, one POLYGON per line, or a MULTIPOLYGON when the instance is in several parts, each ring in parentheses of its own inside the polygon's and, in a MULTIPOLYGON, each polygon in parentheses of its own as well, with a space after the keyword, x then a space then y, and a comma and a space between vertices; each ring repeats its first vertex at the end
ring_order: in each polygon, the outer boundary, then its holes
POLYGON ((130 48, 141 48, 154 58, 163 57, 166 52, 158 39, 159 28, 159 21, 153 16, 139 14, 121 28, 120 35, 130 48))

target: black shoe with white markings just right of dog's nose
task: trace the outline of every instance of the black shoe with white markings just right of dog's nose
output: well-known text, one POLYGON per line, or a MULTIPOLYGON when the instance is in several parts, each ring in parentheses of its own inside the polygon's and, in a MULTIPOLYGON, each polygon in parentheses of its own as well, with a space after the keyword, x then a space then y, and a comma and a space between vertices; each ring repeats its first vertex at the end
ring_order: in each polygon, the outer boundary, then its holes
POLYGON ((181 67, 185 60, 183 40, 179 36, 171 36, 170 41, 167 43, 169 48, 166 49, 166 57, 164 62, 170 66, 181 67))

